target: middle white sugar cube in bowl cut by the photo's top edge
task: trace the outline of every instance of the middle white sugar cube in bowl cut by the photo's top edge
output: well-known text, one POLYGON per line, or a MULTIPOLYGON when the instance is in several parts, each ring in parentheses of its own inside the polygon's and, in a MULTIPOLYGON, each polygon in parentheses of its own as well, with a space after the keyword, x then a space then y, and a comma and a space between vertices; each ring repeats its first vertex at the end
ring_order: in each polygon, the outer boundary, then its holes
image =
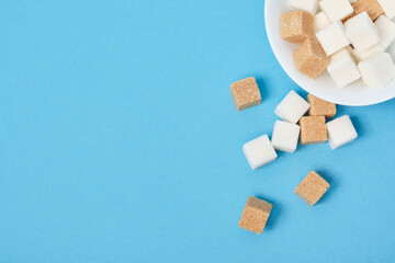
POLYGON ((323 0, 319 2, 319 7, 332 23, 353 13, 349 0, 323 0))

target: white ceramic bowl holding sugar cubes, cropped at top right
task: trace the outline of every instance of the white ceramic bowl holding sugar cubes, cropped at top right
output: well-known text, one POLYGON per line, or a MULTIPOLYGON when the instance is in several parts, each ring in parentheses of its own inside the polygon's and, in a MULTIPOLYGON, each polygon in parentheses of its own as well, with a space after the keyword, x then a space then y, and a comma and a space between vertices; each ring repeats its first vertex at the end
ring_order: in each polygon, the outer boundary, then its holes
POLYGON ((298 45, 283 41, 280 35, 280 16, 287 11, 291 11, 287 0, 266 0, 266 28, 276 59, 301 88, 323 100, 352 106, 376 104, 395 98, 395 80, 380 89, 369 88, 362 80, 339 89, 328 72, 323 73, 316 80, 298 72, 293 61, 293 52, 298 45))

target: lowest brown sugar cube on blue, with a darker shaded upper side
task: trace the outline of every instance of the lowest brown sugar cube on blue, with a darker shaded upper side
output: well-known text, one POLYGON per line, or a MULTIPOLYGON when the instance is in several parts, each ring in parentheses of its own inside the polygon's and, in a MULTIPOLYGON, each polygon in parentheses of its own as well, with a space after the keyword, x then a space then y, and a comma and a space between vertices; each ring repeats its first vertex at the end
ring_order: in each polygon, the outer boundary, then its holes
POLYGON ((239 227, 261 235, 268 221, 272 205, 256 197, 248 197, 242 210, 239 227))

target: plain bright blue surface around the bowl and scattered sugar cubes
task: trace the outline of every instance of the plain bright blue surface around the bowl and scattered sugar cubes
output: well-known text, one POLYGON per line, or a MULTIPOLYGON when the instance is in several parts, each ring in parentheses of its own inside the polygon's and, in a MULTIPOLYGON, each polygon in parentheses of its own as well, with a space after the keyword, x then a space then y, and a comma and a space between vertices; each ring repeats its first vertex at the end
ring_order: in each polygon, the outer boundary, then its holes
POLYGON ((0 2, 0 262, 394 262, 395 101, 338 107, 360 137, 251 171, 244 142, 306 95, 263 0, 0 2), (255 76, 262 104, 236 112, 255 76), (331 184, 315 207, 293 190, 331 184), (261 236, 237 224, 273 204, 261 236))

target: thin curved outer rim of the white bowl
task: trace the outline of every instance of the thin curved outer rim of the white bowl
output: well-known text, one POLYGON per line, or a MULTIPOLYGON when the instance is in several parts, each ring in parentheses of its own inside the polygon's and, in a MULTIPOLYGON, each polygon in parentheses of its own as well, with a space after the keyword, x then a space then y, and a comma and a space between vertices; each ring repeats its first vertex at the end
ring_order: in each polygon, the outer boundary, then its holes
MULTIPOLYGON (((284 0, 266 0, 264 1, 264 26, 266 26, 266 32, 267 32, 267 37, 269 39, 269 44, 270 47, 276 58, 276 60, 279 61, 280 66, 282 67, 282 69, 285 71, 285 73, 298 85, 301 87, 303 90, 307 91, 308 93, 312 93, 315 96, 318 96, 323 100, 339 104, 339 105, 348 105, 348 106, 368 106, 368 105, 374 105, 374 104, 379 104, 385 101, 390 101, 392 99, 395 98, 395 88, 394 89, 390 89, 385 92, 380 92, 377 93, 376 96, 371 96, 369 98, 369 100, 352 100, 352 99, 343 99, 343 98, 338 98, 335 95, 328 95, 328 94, 323 94, 323 92, 320 92, 319 90, 312 90, 308 87, 305 87, 301 79, 297 77, 297 75, 295 75, 294 72, 292 72, 284 64, 282 56, 281 56, 281 48, 279 48, 276 45, 273 44, 273 31, 275 28, 268 26, 269 23, 269 18, 271 16, 269 13, 269 9, 271 8, 271 3, 273 3, 274 1, 284 1, 284 0)), ((279 18, 280 19, 280 18, 279 18)), ((297 72, 298 73, 298 72, 297 72)), ((373 88, 372 88, 373 89, 373 88)))

